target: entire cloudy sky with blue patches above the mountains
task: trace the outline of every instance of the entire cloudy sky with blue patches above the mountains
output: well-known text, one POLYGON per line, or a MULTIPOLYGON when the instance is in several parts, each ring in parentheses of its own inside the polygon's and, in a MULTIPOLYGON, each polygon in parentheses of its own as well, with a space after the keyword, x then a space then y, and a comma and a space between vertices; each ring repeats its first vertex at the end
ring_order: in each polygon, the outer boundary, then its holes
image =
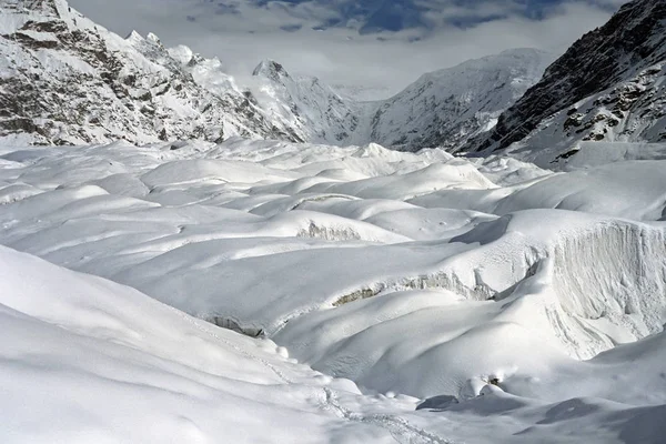
POLYGON ((121 34, 218 57, 239 83, 264 59, 362 99, 511 48, 563 53, 626 0, 70 0, 121 34), (349 90, 347 90, 349 91, 349 90))

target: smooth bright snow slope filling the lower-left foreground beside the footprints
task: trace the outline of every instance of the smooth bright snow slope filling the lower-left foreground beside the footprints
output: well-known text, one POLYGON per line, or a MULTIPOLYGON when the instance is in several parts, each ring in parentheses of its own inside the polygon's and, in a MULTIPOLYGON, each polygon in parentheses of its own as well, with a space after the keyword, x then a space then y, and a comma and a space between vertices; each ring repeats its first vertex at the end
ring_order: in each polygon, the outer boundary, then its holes
MULTIPOLYGON (((271 341, 6 248, 0 265, 3 443, 392 442, 390 426, 345 421, 327 402, 372 413, 381 400, 271 341)), ((414 401, 384 397, 374 411, 408 413, 414 401)))

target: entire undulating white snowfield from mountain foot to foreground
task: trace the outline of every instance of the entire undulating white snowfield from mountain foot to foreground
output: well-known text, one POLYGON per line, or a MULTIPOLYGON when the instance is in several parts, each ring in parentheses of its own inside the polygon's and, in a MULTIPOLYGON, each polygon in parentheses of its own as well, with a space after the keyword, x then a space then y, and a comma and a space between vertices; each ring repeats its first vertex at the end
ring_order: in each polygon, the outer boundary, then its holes
POLYGON ((662 443, 633 152, 0 147, 0 441, 662 443))

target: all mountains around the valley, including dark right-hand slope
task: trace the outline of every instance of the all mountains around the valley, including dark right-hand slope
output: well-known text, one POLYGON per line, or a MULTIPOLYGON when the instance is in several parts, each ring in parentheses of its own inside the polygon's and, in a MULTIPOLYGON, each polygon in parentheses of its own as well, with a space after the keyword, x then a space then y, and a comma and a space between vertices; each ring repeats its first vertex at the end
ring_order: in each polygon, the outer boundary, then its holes
POLYGON ((627 3, 558 60, 515 49, 424 74, 366 102, 261 62, 239 87, 218 59, 121 38, 65 0, 0 6, 0 140, 143 144, 231 137, 566 163, 584 141, 666 140, 666 3, 627 3))

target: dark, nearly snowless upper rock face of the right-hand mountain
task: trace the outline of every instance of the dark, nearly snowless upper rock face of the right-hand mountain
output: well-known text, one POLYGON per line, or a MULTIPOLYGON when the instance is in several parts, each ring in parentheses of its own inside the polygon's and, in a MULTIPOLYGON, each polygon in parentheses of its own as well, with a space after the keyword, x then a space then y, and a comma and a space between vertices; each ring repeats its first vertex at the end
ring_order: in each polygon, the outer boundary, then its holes
MULTIPOLYGON (((605 26, 583 36, 555 61, 543 79, 500 117, 493 131, 472 140, 463 149, 504 149, 525 138, 552 114, 629 80, 664 59, 666 2, 627 3, 605 26)), ((575 123, 574 117, 568 125, 575 123)))

